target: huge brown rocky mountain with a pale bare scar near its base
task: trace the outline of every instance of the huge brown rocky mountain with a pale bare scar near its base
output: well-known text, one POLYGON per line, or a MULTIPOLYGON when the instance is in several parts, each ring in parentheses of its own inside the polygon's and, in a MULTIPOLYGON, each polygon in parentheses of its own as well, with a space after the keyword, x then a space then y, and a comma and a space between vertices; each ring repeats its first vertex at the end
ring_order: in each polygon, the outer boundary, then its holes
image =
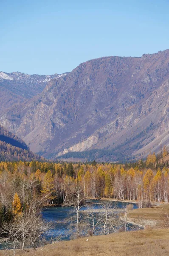
POLYGON ((169 145, 169 50, 82 63, 1 113, 0 123, 45 157, 110 161, 158 152, 169 145))

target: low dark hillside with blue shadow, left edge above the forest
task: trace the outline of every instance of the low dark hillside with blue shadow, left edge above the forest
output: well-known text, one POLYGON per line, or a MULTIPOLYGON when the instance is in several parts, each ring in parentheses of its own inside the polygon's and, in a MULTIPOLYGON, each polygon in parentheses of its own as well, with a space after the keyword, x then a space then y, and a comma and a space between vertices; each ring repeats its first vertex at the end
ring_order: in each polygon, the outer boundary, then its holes
POLYGON ((31 152, 28 146, 0 125, 0 160, 1 161, 31 161, 41 160, 41 157, 31 152))

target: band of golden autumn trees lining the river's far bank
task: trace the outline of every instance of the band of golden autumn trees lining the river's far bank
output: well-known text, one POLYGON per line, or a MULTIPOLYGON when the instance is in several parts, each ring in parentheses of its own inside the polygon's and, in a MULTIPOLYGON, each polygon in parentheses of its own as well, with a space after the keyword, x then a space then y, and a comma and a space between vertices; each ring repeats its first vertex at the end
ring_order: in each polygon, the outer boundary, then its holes
MULTIPOLYGON (((30 194, 45 198, 44 204, 62 204, 70 186, 80 185, 87 198, 169 201, 169 169, 155 154, 136 163, 1 162, 0 204, 11 209, 15 193, 24 207, 30 194)), ((8 212, 8 211, 7 211, 8 212)))

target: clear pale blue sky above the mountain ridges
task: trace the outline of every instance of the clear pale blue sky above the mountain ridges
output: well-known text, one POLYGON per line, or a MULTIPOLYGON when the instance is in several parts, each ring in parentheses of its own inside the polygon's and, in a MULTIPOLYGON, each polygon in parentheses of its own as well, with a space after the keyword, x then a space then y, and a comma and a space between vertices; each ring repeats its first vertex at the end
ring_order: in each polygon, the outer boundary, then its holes
POLYGON ((0 0, 0 70, 53 74, 169 48, 169 0, 0 0))

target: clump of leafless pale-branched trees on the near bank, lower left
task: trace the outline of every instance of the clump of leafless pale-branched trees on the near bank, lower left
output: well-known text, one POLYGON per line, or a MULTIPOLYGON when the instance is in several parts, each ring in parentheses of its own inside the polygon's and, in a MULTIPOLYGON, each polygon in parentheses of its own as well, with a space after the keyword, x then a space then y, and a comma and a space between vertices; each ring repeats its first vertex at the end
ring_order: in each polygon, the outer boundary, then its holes
POLYGON ((42 235, 51 226, 42 219, 39 202, 33 198, 25 211, 15 216, 13 221, 3 222, 0 233, 7 236, 8 241, 13 244, 14 255, 17 248, 24 249, 30 246, 34 249, 42 239, 42 235))

